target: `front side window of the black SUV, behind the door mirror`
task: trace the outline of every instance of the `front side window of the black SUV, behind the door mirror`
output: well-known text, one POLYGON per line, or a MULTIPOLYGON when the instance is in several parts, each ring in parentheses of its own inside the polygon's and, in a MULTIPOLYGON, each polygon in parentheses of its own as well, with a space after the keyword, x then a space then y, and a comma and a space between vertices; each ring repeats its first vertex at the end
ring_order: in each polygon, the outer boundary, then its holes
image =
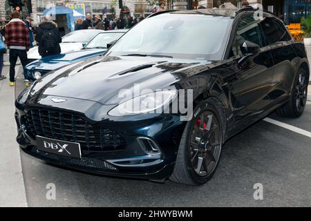
POLYGON ((263 47, 263 39, 261 28, 259 28, 257 21, 254 19, 254 15, 247 14, 241 17, 238 21, 238 28, 236 30, 236 37, 232 45, 231 56, 242 55, 240 46, 244 41, 252 41, 258 46, 263 47))

